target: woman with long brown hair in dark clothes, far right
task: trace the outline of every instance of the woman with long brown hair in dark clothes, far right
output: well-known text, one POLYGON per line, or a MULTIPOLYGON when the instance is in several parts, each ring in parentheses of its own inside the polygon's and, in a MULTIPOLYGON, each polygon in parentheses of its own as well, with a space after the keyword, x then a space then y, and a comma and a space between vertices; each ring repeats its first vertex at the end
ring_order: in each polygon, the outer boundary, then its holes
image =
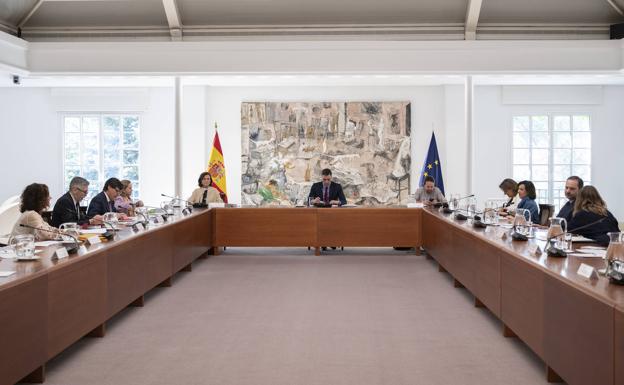
POLYGON ((579 191, 568 229, 605 246, 609 244, 607 233, 620 231, 617 219, 607 210, 594 186, 585 186, 579 191))

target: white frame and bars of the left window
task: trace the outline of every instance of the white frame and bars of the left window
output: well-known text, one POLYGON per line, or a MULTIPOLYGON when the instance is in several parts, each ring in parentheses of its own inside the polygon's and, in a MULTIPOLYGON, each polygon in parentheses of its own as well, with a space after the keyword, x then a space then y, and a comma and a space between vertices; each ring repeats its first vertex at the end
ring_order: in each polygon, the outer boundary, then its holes
MULTIPOLYGON (((136 164, 137 167, 137 175, 139 175, 139 179, 137 180, 137 182, 139 182, 139 189, 136 190, 137 192, 140 192, 141 189, 141 131, 142 131, 142 126, 143 126, 143 115, 140 112, 134 112, 134 111, 123 111, 123 112, 114 112, 114 111, 65 111, 59 114, 59 125, 61 128, 61 137, 62 137, 62 144, 61 144, 61 166, 62 166, 62 171, 61 171, 61 185, 63 186, 64 189, 69 188, 69 186, 66 186, 67 181, 65 180, 65 170, 67 167, 67 163, 66 163, 66 142, 65 142, 65 119, 68 117, 73 117, 73 118, 79 118, 80 119, 80 149, 79 149, 79 154, 80 154, 80 164, 78 165, 78 167, 80 168, 80 175, 83 175, 84 169, 83 169, 83 148, 84 148, 84 138, 83 138, 83 130, 82 130, 82 119, 83 118, 88 118, 88 117, 97 117, 99 119, 99 128, 98 128, 98 145, 99 145, 99 149, 98 149, 98 175, 100 180, 98 180, 98 182, 101 183, 101 186, 104 185, 104 182, 106 181, 106 178, 104 176, 104 143, 103 143, 103 131, 104 131, 104 126, 103 126, 103 121, 104 121, 104 117, 105 116, 115 116, 115 117, 119 117, 121 119, 120 124, 122 125, 120 127, 120 131, 119 131, 119 135, 120 135, 120 144, 121 144, 121 163, 120 163, 120 172, 123 172, 123 118, 124 117, 136 117, 137 121, 138 121, 138 147, 136 148, 136 151, 139 152, 139 161, 136 164)), ((123 179, 121 178, 121 176, 117 176, 119 179, 123 179)), ((89 182, 91 184, 93 184, 93 181, 89 180, 89 182)), ((100 187, 101 187, 100 186, 100 187)))

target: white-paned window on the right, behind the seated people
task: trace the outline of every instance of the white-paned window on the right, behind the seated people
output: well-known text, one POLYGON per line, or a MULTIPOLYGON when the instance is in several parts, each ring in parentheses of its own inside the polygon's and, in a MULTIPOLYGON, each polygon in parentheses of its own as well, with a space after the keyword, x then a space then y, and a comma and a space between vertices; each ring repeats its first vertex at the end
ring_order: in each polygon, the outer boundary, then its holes
POLYGON ((591 183, 591 126, 588 115, 522 115, 512 118, 513 177, 535 183, 540 203, 565 204, 565 180, 578 175, 591 183))

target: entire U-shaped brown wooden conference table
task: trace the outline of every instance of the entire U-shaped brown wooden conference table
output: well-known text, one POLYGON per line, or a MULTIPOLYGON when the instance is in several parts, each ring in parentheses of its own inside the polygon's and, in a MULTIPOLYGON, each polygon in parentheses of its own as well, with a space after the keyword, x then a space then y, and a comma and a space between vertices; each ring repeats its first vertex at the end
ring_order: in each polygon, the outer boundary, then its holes
POLYGON ((476 306, 501 320, 503 335, 519 337, 546 363, 549 380, 624 385, 624 287, 576 273, 581 263, 601 267, 600 259, 533 256, 539 241, 499 233, 433 209, 212 208, 123 229, 64 259, 52 258, 58 245, 41 248, 38 261, 4 259, 0 271, 16 273, 0 278, 0 385, 43 382, 47 361, 85 336, 105 336, 111 317, 143 306, 148 291, 229 246, 316 254, 322 246, 423 246, 476 306))

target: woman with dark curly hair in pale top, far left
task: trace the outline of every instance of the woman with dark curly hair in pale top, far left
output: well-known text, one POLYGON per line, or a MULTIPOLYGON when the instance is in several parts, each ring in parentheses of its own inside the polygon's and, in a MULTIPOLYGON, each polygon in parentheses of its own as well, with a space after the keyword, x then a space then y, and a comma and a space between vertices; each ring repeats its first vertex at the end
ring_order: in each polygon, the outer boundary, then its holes
POLYGON ((40 183, 26 186, 21 196, 20 212, 22 215, 15 222, 11 236, 33 234, 35 241, 57 239, 59 237, 58 229, 48 225, 41 217, 41 213, 48 207, 50 207, 48 186, 40 183), (20 226, 22 224, 37 227, 40 230, 22 227, 20 226))

